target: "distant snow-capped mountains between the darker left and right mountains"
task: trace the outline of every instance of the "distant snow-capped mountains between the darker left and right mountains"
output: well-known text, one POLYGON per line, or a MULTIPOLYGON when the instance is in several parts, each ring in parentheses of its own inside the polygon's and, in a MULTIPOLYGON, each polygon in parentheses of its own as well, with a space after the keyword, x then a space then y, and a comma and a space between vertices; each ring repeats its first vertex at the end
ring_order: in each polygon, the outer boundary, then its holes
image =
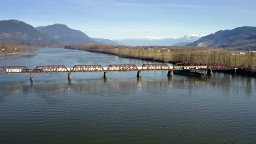
MULTIPOLYGON (((207 34, 206 34, 207 35, 207 34)), ((156 38, 156 37, 146 37, 146 38, 135 38, 135 39, 119 39, 115 40, 124 45, 158 45, 158 46, 171 46, 177 43, 193 43, 196 40, 204 37, 204 34, 191 34, 184 35, 180 38, 156 38)))

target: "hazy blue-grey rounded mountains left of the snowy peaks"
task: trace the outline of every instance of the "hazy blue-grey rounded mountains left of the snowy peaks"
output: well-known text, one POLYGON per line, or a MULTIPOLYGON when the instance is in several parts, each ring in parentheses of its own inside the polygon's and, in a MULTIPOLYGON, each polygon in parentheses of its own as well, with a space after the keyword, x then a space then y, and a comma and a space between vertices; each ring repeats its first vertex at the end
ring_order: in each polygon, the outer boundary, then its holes
POLYGON ((34 28, 18 20, 0 21, 0 41, 38 45, 118 45, 116 41, 90 38, 83 32, 66 25, 54 24, 34 28))

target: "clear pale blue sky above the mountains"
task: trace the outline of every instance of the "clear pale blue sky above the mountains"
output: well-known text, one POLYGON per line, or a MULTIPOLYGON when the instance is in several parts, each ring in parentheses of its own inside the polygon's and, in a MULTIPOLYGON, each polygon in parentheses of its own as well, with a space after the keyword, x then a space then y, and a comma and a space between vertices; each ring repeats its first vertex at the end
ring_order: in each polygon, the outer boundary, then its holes
POLYGON ((0 20, 63 23, 93 38, 177 38, 256 26, 251 0, 0 0, 0 20))

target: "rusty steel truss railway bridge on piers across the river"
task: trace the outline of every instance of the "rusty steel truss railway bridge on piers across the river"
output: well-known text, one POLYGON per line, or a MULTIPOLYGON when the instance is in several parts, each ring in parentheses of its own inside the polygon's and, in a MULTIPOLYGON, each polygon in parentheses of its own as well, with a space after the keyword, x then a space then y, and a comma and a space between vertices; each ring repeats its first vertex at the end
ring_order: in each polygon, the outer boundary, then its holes
POLYGON ((103 72, 104 78, 108 77, 108 72, 126 72, 137 71, 137 77, 141 77, 142 71, 168 71, 167 76, 173 76, 173 70, 185 70, 193 73, 199 73, 200 70, 206 71, 206 74, 212 74, 212 70, 234 70, 235 67, 227 64, 206 65, 197 62, 177 63, 173 66, 168 64, 143 64, 142 67, 137 67, 135 64, 110 64, 108 67, 102 65, 74 65, 73 68, 67 68, 65 65, 40 65, 36 68, 29 69, 26 66, 3 66, 0 67, 0 74, 30 74, 30 79, 33 80, 33 74, 52 74, 52 73, 68 73, 68 79, 72 79, 72 73, 89 73, 103 72))

